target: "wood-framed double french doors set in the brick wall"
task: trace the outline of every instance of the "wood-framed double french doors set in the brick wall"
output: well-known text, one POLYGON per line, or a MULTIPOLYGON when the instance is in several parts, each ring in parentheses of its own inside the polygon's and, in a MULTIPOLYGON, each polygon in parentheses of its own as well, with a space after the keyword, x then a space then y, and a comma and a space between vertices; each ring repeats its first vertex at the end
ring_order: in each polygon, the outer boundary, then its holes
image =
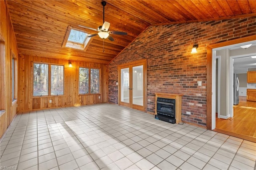
POLYGON ((146 112, 146 59, 118 66, 118 104, 146 112))

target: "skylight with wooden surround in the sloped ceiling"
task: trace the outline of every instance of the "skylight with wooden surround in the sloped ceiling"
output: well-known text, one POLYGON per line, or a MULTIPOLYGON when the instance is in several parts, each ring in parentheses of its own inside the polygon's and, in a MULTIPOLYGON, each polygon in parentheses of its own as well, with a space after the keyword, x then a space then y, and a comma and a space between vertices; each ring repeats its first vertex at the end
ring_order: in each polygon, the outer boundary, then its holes
POLYGON ((62 47, 86 50, 86 46, 90 43, 88 36, 90 34, 69 26, 62 47))

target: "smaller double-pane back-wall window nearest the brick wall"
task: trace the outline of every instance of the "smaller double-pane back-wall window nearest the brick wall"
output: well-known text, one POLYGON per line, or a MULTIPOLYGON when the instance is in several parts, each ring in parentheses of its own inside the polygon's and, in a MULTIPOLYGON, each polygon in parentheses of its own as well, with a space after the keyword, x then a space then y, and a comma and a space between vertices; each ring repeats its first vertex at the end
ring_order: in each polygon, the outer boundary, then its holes
POLYGON ((100 70, 80 67, 79 94, 97 93, 100 93, 100 70))

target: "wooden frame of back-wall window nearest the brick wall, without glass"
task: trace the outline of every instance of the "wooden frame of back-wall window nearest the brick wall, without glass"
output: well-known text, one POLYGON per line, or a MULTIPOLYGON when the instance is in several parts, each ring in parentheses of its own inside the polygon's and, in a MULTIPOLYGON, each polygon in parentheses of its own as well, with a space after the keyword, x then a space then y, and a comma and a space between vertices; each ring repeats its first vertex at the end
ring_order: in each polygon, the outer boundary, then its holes
POLYGON ((101 69, 97 68, 97 67, 84 67, 84 66, 79 66, 78 67, 78 96, 82 96, 82 95, 100 95, 101 94, 101 88, 100 88, 100 81, 101 80, 101 69), (89 78, 88 78, 88 93, 79 93, 79 89, 80 89, 80 75, 79 75, 79 70, 80 68, 86 68, 88 69, 88 73, 89 73, 89 78), (99 93, 91 93, 91 69, 98 69, 99 70, 99 93))

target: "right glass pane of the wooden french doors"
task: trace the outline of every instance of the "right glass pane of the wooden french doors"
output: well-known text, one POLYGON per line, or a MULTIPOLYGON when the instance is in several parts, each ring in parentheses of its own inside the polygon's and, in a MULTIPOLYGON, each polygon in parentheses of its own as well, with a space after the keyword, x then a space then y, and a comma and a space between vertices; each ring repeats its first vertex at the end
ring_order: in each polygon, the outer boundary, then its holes
POLYGON ((132 104, 143 106, 143 65, 132 67, 132 104))

